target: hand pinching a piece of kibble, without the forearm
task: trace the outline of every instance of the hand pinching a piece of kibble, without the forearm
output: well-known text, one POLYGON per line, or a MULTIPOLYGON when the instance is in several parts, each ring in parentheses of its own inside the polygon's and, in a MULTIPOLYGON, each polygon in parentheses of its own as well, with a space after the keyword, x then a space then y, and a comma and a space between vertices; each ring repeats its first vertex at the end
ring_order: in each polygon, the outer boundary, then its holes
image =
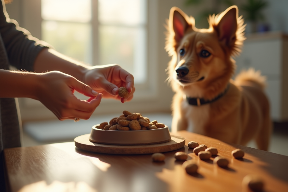
POLYGON ((83 82, 96 92, 102 93, 105 98, 121 100, 122 103, 130 101, 135 91, 133 75, 117 64, 89 67, 85 72, 83 82), (120 87, 128 90, 126 98, 118 96, 120 87))

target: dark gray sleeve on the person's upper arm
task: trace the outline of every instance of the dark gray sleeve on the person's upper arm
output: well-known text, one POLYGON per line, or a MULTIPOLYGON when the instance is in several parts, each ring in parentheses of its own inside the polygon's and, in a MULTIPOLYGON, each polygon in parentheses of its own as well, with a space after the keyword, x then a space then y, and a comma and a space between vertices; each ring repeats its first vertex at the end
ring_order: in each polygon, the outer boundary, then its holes
POLYGON ((29 31, 20 28, 15 20, 9 18, 5 4, 0 4, 0 34, 10 64, 17 69, 34 71, 34 61, 39 52, 49 46, 48 43, 39 41, 29 31))

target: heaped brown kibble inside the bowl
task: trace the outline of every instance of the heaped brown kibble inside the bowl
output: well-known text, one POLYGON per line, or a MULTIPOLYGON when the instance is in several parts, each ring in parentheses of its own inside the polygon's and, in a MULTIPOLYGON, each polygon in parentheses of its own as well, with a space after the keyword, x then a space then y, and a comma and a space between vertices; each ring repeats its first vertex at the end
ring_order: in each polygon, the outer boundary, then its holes
POLYGON ((112 131, 129 131, 129 130, 151 130, 164 128, 163 123, 158 123, 156 120, 151 121, 148 117, 143 117, 140 113, 130 113, 123 111, 120 117, 114 117, 108 122, 103 122, 98 129, 112 130, 112 131))

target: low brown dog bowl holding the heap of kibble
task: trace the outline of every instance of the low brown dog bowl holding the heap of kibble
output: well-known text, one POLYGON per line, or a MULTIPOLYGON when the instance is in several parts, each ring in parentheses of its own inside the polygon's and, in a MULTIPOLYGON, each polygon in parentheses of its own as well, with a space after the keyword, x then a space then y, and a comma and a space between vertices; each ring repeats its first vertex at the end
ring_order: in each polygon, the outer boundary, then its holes
POLYGON ((89 140, 107 145, 151 145, 171 140, 168 126, 164 128, 139 131, 112 131, 98 129, 100 124, 92 127, 89 140))

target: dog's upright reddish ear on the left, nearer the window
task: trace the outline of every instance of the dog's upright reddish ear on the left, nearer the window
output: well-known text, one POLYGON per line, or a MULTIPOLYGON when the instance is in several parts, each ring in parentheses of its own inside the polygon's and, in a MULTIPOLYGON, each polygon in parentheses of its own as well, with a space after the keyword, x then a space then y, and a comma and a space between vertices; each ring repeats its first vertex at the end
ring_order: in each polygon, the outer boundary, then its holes
POLYGON ((169 28, 174 31, 176 42, 183 38, 185 31, 191 26, 187 20, 189 20, 189 17, 178 7, 170 9, 169 28))

